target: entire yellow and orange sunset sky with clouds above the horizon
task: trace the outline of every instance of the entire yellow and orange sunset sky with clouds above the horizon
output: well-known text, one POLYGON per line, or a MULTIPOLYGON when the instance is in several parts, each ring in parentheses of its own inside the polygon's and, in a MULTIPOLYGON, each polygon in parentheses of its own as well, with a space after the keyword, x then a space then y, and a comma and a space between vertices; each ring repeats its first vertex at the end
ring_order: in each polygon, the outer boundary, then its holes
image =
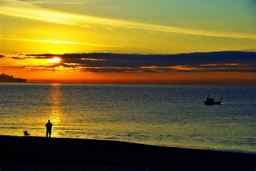
POLYGON ((2 0, 0 74, 51 83, 256 85, 255 6, 254 0, 2 0), (244 52, 192 53, 219 51, 244 52), (183 54, 163 55, 176 53, 183 54))

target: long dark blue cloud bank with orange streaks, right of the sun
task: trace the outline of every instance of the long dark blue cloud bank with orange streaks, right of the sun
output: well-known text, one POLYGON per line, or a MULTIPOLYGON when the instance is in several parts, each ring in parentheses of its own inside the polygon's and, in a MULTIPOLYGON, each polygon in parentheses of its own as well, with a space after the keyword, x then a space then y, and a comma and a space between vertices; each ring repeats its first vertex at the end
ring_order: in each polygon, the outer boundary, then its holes
MULTIPOLYGON (((33 59, 48 59, 56 54, 20 54, 33 59)), ((86 72, 256 72, 256 52, 224 51, 180 54, 58 54, 54 65, 26 68, 61 69, 86 72)), ((17 57, 18 58, 18 57, 17 57)))

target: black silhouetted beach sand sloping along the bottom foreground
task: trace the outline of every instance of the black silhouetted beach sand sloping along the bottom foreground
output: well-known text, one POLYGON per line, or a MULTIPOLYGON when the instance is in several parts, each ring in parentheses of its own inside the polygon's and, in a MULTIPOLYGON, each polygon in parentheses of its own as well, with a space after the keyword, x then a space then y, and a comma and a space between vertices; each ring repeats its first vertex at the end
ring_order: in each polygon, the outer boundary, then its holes
POLYGON ((0 136, 0 170, 255 170, 256 155, 136 143, 0 136))

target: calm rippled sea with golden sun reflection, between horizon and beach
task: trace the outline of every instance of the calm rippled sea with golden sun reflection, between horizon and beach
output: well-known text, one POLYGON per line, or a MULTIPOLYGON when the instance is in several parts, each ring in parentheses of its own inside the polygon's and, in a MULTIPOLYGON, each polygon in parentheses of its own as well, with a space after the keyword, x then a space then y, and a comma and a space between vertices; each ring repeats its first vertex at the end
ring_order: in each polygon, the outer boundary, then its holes
POLYGON ((255 86, 0 84, 0 134, 256 153, 255 86), (223 105, 206 106, 210 94, 223 105))

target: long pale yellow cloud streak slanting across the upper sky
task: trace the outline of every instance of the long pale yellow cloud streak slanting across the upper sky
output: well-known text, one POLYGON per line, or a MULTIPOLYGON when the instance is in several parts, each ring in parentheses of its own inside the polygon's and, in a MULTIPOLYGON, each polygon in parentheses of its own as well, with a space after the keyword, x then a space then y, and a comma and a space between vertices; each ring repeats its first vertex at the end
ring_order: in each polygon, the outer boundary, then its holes
MULTIPOLYGON (((122 19, 111 19, 102 17, 93 17, 87 15, 78 15, 75 13, 60 12, 51 9, 41 8, 31 2, 19 2, 17 0, 3 1, 2 15, 8 15, 19 18, 40 20, 42 22, 50 22, 65 25, 76 25, 89 28, 91 26, 101 26, 105 29, 126 28, 133 30, 148 30, 167 33, 180 33, 184 35, 194 36, 210 36, 210 37, 228 37, 228 38, 246 38, 256 39, 255 33, 230 33, 219 31, 207 31, 198 29, 179 28, 169 25, 149 24, 132 22, 122 19)), ((52 41, 52 40, 51 40, 52 41)), ((50 43, 50 42, 48 42, 50 43)), ((51 43, 54 43, 52 41, 51 43)), ((72 44, 72 42, 69 42, 72 44)), ((83 44, 83 43, 82 43, 83 44)), ((88 43, 85 43, 88 44, 88 43)), ((90 44, 90 43, 89 43, 90 44)), ((93 44, 92 44, 93 45, 93 44)))

